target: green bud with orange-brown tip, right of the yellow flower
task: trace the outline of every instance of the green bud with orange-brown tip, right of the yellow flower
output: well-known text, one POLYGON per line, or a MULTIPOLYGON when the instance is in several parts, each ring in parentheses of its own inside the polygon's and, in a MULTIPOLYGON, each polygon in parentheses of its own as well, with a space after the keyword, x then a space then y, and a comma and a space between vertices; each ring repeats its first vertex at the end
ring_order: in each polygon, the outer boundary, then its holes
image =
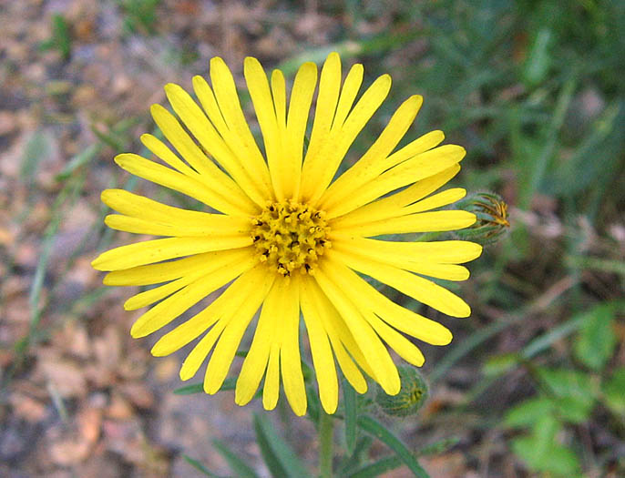
POLYGON ((497 242, 510 228, 507 204, 498 194, 483 191, 469 194, 456 207, 476 215, 473 226, 456 231, 458 239, 472 240, 486 246, 497 242))

